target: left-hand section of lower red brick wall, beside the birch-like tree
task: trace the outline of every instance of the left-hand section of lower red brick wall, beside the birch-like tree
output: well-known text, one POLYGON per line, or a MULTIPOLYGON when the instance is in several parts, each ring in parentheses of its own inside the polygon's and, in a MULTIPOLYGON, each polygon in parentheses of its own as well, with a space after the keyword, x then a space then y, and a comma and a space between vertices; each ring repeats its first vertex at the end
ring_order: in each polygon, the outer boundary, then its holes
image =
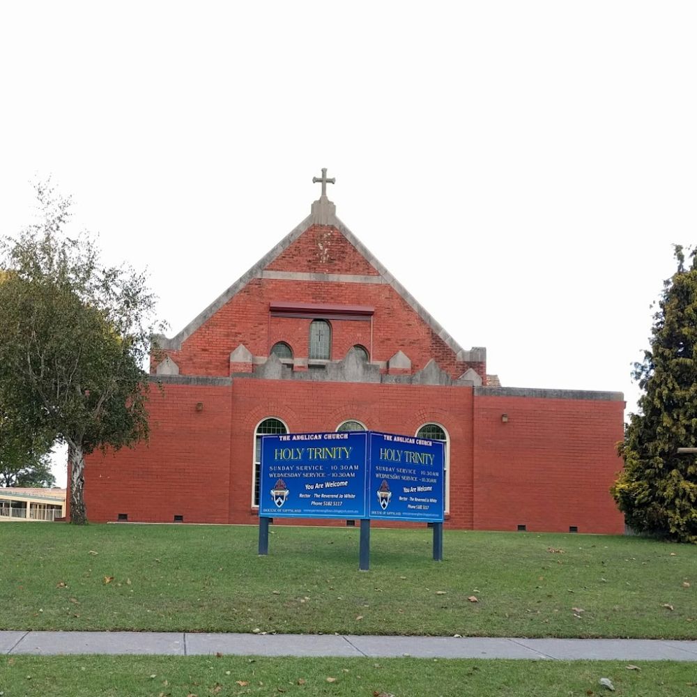
POLYGON ((148 409, 148 443, 87 458, 89 519, 229 522, 230 388, 151 385, 148 409))

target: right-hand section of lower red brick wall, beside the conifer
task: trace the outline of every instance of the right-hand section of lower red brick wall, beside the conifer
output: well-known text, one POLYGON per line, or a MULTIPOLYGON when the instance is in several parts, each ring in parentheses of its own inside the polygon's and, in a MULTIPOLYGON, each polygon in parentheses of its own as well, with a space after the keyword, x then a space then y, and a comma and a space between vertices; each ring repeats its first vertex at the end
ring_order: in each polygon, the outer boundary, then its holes
POLYGON ((622 401, 475 397, 474 527, 622 533, 622 401), (508 415, 508 422, 501 415, 508 415))

